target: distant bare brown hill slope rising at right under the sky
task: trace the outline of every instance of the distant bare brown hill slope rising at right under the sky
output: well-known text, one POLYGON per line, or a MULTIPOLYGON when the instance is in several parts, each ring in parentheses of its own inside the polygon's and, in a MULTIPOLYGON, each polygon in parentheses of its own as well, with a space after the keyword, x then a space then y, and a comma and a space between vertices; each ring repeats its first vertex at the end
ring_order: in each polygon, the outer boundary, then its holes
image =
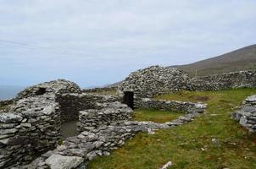
POLYGON ((256 45, 243 47, 234 52, 229 52, 219 57, 209 58, 197 63, 172 67, 181 68, 192 76, 195 76, 196 70, 198 70, 198 76, 203 76, 256 69, 256 45))

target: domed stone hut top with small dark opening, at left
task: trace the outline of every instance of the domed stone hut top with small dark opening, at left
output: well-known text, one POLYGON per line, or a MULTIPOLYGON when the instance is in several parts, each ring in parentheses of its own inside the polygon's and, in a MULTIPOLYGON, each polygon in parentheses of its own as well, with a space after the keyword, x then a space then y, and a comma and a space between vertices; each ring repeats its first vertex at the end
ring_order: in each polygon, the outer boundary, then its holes
POLYGON ((17 95, 16 99, 24 99, 36 95, 81 93, 81 88, 74 82, 65 79, 57 79, 42 84, 31 86, 17 95))

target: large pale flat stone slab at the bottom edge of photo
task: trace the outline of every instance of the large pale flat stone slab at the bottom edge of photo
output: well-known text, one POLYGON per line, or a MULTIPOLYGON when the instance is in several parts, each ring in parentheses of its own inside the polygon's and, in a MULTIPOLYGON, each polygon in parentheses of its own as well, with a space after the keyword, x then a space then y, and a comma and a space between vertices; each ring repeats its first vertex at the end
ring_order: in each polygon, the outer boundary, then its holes
POLYGON ((72 169, 75 168, 84 161, 79 156, 64 156, 64 155, 51 155, 46 160, 46 164, 51 169, 72 169))

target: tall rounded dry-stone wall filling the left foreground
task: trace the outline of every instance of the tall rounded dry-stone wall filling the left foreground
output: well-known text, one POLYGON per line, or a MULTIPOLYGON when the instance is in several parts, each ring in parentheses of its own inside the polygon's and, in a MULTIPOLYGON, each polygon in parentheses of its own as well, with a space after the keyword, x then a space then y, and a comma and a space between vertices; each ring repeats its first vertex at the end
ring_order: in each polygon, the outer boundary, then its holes
POLYGON ((19 166, 57 146, 58 104, 53 95, 17 102, 13 112, 0 113, 0 168, 19 166))

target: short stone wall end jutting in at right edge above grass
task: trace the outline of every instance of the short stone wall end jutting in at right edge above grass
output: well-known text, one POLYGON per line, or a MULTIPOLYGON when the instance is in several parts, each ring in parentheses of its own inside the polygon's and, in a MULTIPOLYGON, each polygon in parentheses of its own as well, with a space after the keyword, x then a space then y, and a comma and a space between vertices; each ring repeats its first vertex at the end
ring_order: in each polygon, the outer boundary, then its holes
POLYGON ((243 101, 241 108, 233 112, 231 117, 256 134, 256 95, 249 96, 243 101))

